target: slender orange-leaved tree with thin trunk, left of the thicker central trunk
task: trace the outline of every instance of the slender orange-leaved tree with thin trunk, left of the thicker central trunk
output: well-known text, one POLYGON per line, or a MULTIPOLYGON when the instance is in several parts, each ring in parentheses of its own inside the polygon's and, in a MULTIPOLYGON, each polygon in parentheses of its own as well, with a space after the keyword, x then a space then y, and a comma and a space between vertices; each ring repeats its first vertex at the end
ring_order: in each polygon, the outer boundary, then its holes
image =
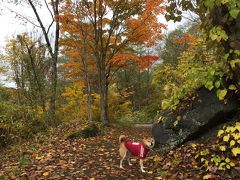
POLYGON ((65 8, 65 14, 62 17, 63 37, 61 45, 63 46, 63 53, 68 56, 68 63, 62 67, 65 71, 68 71, 65 77, 72 78, 76 83, 79 80, 84 81, 88 99, 88 120, 92 122, 92 86, 96 76, 96 66, 93 52, 89 47, 91 27, 87 23, 81 23, 81 14, 78 14, 78 11, 73 11, 74 7, 71 8, 71 11, 68 11, 69 6, 65 8), (77 22, 75 22, 76 19, 77 22))

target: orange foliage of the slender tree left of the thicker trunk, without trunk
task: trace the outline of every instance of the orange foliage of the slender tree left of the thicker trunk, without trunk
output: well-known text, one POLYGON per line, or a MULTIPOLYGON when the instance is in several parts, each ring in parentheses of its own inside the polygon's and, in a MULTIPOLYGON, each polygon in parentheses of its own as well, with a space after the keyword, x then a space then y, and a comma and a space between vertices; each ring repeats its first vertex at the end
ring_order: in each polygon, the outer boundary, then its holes
POLYGON ((68 62, 62 65, 65 70, 65 78, 74 80, 83 79, 85 70, 84 64, 87 64, 91 74, 96 69, 91 44, 92 38, 91 26, 81 21, 82 16, 76 12, 75 6, 71 0, 66 0, 62 7, 60 15, 61 32, 63 37, 60 40, 62 53, 68 57, 68 62))

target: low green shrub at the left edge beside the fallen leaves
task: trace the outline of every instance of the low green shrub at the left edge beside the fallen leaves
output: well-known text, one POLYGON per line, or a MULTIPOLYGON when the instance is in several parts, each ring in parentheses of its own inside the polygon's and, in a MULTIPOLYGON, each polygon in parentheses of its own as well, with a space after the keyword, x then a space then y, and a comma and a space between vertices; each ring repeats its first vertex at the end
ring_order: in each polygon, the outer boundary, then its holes
POLYGON ((5 145, 13 139, 30 138, 45 130, 44 120, 33 108, 5 101, 0 103, 0 123, 0 141, 5 145))

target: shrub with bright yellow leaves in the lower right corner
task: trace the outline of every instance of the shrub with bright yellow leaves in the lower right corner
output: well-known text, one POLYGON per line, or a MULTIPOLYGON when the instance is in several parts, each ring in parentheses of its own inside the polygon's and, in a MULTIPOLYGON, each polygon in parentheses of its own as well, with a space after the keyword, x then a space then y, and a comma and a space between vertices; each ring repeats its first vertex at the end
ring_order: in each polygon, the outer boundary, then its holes
POLYGON ((217 141, 200 152, 196 158, 210 171, 226 171, 239 166, 240 123, 218 131, 217 141))

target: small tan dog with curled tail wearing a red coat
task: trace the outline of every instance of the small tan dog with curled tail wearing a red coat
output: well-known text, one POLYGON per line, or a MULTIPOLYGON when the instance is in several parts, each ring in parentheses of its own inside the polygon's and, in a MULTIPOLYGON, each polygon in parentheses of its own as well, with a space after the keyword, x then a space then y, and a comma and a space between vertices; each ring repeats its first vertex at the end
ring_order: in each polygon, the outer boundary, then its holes
POLYGON ((143 160, 146 158, 147 153, 149 152, 150 149, 152 149, 155 145, 155 140, 153 138, 144 138, 142 142, 136 143, 132 142, 130 140, 126 140, 125 135, 121 135, 119 137, 119 143, 120 143, 120 148, 119 148, 119 155, 120 155, 120 168, 123 169, 122 162, 125 158, 127 158, 129 166, 132 164, 130 163, 129 159, 129 154, 133 156, 137 156, 140 164, 140 169, 142 172, 144 171, 143 168, 143 160))

